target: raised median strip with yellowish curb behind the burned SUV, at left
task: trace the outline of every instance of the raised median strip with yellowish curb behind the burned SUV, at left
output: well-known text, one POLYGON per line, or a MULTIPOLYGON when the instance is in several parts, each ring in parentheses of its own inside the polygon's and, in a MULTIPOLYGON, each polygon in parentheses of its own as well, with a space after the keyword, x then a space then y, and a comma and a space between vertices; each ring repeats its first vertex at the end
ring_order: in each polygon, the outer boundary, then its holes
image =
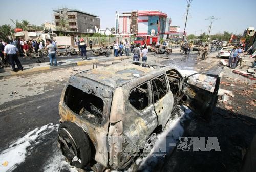
POLYGON ((0 77, 3 76, 13 76, 13 75, 19 75, 19 74, 25 74, 25 73, 31 73, 31 72, 37 72, 37 71, 45 71, 45 70, 52 70, 52 69, 58 69, 58 68, 67 68, 67 67, 73 67, 73 66, 80 66, 80 65, 89 65, 97 62, 106 62, 106 61, 115 61, 115 60, 124 60, 129 59, 132 56, 122 56, 122 57, 96 57, 89 60, 81 61, 81 58, 75 58, 75 59, 67 59, 67 60, 61 60, 58 61, 57 66, 50 66, 49 62, 44 63, 34 63, 30 65, 24 65, 23 71, 13 72, 10 71, 10 69, 1 69, 3 72, 0 72, 0 77))

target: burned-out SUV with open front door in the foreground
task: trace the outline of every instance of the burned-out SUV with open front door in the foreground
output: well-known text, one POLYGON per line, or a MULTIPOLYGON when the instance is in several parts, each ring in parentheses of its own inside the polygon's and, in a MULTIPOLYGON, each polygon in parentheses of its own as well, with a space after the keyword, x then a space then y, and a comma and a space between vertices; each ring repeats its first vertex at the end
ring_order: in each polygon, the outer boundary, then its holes
POLYGON ((216 75, 183 77, 176 69, 145 62, 77 73, 59 103, 62 154, 77 168, 125 169, 132 153, 150 151, 177 104, 208 118, 219 83, 216 75))

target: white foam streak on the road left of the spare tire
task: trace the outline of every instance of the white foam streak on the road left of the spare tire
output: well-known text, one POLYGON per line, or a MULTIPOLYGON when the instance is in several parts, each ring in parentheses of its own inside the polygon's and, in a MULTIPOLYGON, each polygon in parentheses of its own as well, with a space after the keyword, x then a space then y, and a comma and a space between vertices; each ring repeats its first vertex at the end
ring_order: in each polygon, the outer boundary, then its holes
POLYGON ((20 163, 24 162, 26 156, 30 154, 30 151, 33 149, 31 146, 40 143, 40 141, 37 141, 36 139, 56 130, 58 126, 58 124, 53 125, 50 123, 42 127, 37 127, 28 132, 24 137, 12 142, 7 149, 0 153, 0 171, 10 172, 14 170, 20 163), (8 161, 7 166, 2 165, 5 161, 8 161))

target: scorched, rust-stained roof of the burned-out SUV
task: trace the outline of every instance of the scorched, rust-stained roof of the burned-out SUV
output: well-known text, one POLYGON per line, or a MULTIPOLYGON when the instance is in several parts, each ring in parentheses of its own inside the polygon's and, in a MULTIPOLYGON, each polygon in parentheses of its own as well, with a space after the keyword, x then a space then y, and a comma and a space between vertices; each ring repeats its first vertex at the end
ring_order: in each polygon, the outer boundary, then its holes
POLYGON ((145 68, 134 63, 117 63, 104 68, 92 69, 77 73, 75 76, 89 78, 106 86, 116 88, 131 81, 137 80, 140 77, 151 74, 152 77, 165 72, 169 67, 163 68, 145 68))

